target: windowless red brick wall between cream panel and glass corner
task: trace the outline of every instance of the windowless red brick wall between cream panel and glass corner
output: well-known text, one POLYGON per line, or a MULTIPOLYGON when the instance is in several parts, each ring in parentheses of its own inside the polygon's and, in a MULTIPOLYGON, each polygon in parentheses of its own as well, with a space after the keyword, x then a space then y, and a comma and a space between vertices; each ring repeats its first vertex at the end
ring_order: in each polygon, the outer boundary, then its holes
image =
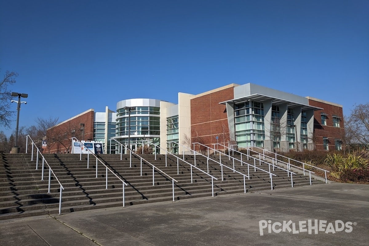
POLYGON ((232 100, 233 87, 191 99, 191 141, 211 146, 218 142, 227 145, 229 129, 225 105, 232 100))

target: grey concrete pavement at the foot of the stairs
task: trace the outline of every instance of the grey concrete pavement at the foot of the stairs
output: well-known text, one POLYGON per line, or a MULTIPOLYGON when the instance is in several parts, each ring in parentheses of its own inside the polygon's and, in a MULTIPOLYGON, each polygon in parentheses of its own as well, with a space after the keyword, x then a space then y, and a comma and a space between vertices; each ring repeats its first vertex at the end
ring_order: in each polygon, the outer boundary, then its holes
POLYGON ((0 222, 3 246, 346 246, 368 241, 369 185, 341 183, 0 222))

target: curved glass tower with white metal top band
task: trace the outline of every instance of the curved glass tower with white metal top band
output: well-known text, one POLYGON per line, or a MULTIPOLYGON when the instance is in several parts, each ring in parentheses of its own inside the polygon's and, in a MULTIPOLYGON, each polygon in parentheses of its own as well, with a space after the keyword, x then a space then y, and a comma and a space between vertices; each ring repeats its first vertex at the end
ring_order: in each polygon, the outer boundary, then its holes
POLYGON ((146 98, 119 101, 114 139, 128 145, 129 134, 132 150, 136 150, 137 146, 142 144, 142 140, 148 140, 159 146, 161 101, 146 98))

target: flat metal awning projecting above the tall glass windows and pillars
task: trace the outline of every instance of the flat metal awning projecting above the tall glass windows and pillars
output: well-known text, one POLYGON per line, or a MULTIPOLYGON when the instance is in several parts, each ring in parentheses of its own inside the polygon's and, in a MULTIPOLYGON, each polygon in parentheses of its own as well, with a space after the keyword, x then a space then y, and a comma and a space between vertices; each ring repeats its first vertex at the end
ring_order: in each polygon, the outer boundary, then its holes
POLYGON ((246 102, 246 101, 257 101, 257 102, 263 103, 264 101, 269 101, 269 100, 272 100, 273 105, 287 104, 289 108, 301 107, 301 110, 322 110, 323 109, 323 108, 318 108, 318 107, 314 107, 314 106, 311 106, 311 105, 296 103, 296 102, 293 102, 293 101, 288 101, 288 100, 284 100, 284 99, 280 99, 280 98, 276 98, 276 97, 265 96, 265 95, 262 95, 262 94, 252 94, 250 96, 245 96, 245 97, 240 97, 240 98, 224 101, 224 102, 221 102, 219 104, 243 103, 243 102, 246 102))

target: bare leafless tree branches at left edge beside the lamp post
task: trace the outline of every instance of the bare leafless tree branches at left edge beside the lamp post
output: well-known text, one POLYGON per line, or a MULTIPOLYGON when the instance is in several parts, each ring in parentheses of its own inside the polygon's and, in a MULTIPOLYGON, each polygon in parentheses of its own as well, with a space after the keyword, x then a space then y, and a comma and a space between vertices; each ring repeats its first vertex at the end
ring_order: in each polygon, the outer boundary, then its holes
POLYGON ((11 117, 15 111, 10 110, 11 90, 8 86, 15 83, 18 73, 6 71, 3 80, 0 81, 0 124, 9 129, 11 117))

